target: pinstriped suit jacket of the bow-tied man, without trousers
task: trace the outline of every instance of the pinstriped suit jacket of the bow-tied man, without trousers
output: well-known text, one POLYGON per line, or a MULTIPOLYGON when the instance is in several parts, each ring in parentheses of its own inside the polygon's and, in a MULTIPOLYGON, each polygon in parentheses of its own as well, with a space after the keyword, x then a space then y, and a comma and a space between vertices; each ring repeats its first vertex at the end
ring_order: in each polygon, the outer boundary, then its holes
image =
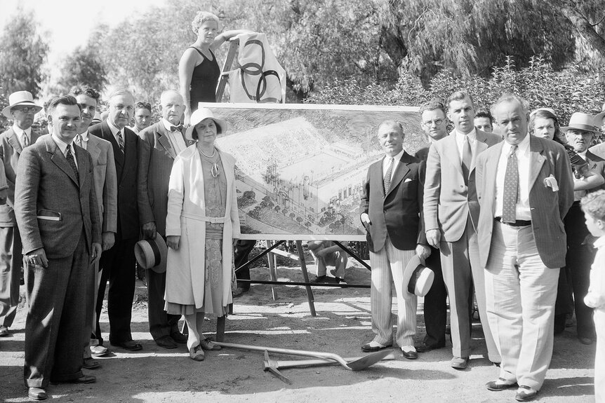
MULTIPOLYGON (((141 225, 155 221, 157 231, 160 235, 166 236, 168 182, 177 153, 161 121, 141 130, 139 137, 137 191, 139 221, 141 225)), ((184 135, 182 139, 185 146, 194 143, 185 139, 184 135)))

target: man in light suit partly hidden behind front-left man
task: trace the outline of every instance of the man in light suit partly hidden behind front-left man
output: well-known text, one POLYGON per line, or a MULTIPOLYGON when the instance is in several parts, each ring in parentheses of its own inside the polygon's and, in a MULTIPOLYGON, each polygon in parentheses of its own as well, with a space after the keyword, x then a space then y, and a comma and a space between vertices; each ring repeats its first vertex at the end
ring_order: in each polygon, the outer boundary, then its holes
MULTIPOLYGON (((95 193, 101 220, 102 250, 109 250, 114 245, 117 232, 117 177, 116 164, 112 144, 100 137, 88 135, 88 125, 91 124, 100 94, 93 88, 72 88, 72 95, 76 97, 81 114, 80 128, 75 143, 91 154, 93 160, 93 177, 95 179, 95 193)), ((98 346, 96 337, 96 302, 99 287, 100 273, 97 262, 88 276, 88 299, 86 300, 86 327, 84 327, 84 367, 94 369, 100 363, 93 360, 91 355, 100 356, 107 353, 107 348, 98 346), (91 327, 88 327, 90 325, 91 327)))

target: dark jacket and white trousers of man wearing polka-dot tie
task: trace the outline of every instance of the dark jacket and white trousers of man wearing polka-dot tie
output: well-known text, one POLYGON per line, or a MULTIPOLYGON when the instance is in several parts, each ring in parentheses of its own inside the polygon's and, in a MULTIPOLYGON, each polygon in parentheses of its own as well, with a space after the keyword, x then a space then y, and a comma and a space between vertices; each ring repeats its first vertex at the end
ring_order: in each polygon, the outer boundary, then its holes
POLYGON ((540 390, 552 356, 557 280, 567 252, 563 217, 573 203, 573 179, 561 144, 527 137, 527 154, 522 143, 517 154, 519 160, 528 158, 528 172, 521 172, 519 162, 519 187, 527 177, 531 222, 515 226, 495 219, 496 198, 503 198, 496 191, 498 163, 503 152, 510 153, 501 143, 477 160, 477 230, 486 268, 487 318, 502 354, 500 377, 540 390), (550 177, 557 186, 548 186, 550 177))

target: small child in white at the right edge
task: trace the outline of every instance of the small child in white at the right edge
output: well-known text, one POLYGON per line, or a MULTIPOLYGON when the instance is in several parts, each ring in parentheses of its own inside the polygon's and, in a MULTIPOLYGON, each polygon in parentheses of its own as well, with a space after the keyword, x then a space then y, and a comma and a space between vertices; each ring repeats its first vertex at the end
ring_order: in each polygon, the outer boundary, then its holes
POLYGON ((594 308, 597 330, 597 355, 594 357, 594 399, 605 402, 605 191, 589 193, 582 199, 586 226, 598 239, 594 242, 597 255, 590 269, 590 287, 584 303, 594 308))

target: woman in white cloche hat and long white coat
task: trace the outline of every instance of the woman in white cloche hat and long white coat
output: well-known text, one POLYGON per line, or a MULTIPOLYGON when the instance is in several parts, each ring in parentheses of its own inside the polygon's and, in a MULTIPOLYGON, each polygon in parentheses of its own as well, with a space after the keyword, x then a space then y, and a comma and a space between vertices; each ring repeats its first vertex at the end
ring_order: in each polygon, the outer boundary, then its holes
POLYGON ((239 238, 235 160, 214 141, 227 124, 202 108, 185 137, 197 140, 174 161, 166 217, 166 311, 185 316, 193 360, 220 346, 204 338, 204 314, 227 314, 232 303, 233 245, 239 238))

